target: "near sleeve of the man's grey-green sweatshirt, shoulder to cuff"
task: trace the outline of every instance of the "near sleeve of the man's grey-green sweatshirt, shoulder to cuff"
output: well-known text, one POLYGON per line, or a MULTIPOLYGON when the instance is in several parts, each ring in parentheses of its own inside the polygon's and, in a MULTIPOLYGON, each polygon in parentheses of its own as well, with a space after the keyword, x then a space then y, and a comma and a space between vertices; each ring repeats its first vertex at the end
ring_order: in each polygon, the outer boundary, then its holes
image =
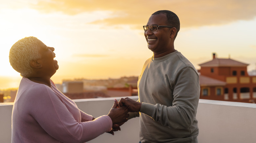
POLYGON ((193 68, 185 67, 177 74, 175 82, 172 106, 142 103, 140 112, 164 126, 189 128, 195 119, 199 102, 199 76, 193 68))

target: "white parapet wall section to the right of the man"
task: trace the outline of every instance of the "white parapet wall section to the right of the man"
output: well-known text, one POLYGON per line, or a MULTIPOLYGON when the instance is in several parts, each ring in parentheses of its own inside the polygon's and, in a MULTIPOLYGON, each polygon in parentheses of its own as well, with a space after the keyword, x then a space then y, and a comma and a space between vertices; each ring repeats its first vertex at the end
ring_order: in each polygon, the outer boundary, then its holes
POLYGON ((256 142, 256 104, 200 99, 199 143, 256 142))

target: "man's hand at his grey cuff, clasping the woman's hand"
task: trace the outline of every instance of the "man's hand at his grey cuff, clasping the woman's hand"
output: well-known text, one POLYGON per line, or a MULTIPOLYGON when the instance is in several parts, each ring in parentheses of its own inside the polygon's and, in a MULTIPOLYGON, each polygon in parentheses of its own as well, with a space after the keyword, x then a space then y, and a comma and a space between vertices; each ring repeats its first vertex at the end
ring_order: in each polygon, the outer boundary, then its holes
POLYGON ((121 98, 118 102, 118 107, 126 106, 129 109, 129 112, 139 112, 141 108, 140 102, 134 101, 128 97, 125 99, 121 98))

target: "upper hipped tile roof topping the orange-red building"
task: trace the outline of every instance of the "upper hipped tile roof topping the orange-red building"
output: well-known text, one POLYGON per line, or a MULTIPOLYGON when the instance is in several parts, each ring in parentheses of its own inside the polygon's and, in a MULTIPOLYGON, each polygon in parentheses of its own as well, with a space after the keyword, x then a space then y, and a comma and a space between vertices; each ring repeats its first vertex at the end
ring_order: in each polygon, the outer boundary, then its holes
POLYGON ((246 67, 248 65, 230 58, 214 58, 211 61, 199 64, 201 67, 246 67))

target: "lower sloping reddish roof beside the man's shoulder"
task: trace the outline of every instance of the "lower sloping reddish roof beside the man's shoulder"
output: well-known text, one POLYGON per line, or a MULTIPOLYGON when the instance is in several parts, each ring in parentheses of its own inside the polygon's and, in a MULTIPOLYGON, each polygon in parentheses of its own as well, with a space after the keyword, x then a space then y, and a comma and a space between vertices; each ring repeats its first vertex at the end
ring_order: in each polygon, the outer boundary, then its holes
POLYGON ((200 86, 225 86, 226 82, 213 79, 204 75, 199 75, 200 86))

